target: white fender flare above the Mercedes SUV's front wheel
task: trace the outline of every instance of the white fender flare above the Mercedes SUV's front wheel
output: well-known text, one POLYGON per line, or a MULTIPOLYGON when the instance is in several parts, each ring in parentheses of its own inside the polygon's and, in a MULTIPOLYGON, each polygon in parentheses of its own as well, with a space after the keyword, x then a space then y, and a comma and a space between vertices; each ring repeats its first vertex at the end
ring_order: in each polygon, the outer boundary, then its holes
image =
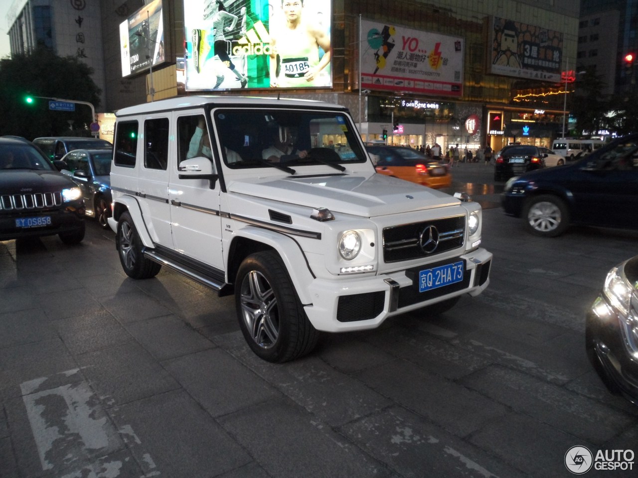
MULTIPOLYGON (((304 305, 313 303, 309 286, 315 279, 315 275, 313 275, 310 270, 306 255, 297 241, 285 234, 269 229, 257 228, 255 226, 246 226, 245 228, 239 229, 239 231, 235 232, 232 240, 239 237, 260 242, 276 250, 286 266, 290 280, 292 280, 292 284, 295 287, 295 291, 301 303, 304 305)), ((230 249, 232 249, 232 247, 230 249)), ((232 260, 232 257, 228 257, 228 259, 232 260)))

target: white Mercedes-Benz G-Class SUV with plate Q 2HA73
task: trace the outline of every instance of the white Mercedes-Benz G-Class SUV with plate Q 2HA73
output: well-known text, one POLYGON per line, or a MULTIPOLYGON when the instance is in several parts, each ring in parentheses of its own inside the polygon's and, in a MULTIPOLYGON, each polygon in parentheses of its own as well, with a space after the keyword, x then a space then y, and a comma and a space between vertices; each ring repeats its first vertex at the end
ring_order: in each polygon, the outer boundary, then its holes
POLYGON ((167 266, 234 293, 265 360, 489 284, 480 205, 377 174, 343 106, 188 96, 116 116, 108 222, 124 272, 167 266))

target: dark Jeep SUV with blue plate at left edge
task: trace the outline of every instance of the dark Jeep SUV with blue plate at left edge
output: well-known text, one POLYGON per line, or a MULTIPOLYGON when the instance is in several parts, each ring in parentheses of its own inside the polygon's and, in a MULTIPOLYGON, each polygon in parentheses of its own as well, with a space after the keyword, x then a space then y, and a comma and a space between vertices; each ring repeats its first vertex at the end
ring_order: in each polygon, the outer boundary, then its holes
POLYGON ((82 191, 29 141, 0 138, 0 241, 55 234, 84 239, 82 191))

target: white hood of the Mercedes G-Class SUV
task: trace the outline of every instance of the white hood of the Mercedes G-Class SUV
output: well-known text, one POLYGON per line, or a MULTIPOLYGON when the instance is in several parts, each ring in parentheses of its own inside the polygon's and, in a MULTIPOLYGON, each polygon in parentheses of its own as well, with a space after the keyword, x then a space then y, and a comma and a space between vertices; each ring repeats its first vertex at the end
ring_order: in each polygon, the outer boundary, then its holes
POLYGON ((362 217, 456 206, 460 202, 444 192, 377 173, 244 179, 232 181, 226 187, 231 194, 282 203, 290 203, 294 198, 298 205, 362 217))

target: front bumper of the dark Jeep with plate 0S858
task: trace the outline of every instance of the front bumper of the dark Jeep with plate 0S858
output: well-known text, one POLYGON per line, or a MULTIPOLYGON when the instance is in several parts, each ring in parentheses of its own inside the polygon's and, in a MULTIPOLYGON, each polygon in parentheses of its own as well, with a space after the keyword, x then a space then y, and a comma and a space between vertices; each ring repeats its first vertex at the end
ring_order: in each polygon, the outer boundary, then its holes
POLYGON ((84 201, 71 201, 55 209, 0 211, 0 241, 71 233, 82 227, 84 201), (18 227, 16 219, 49 217, 50 224, 18 227))

